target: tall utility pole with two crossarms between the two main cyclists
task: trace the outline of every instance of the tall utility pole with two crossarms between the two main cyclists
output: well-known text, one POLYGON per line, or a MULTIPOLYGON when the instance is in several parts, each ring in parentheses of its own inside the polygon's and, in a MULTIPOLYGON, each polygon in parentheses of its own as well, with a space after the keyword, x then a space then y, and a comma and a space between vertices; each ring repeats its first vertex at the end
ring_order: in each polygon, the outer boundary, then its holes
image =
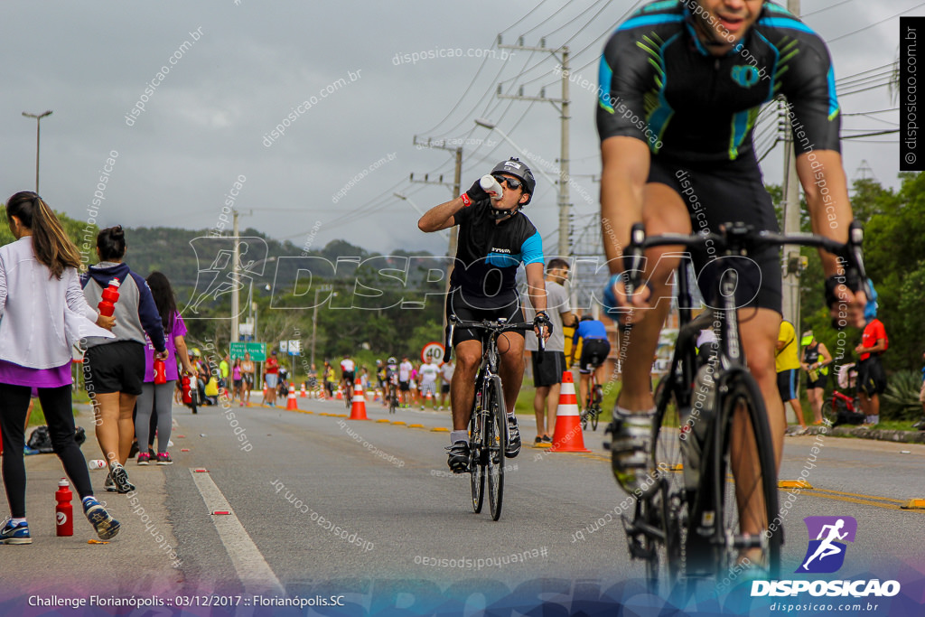
POLYGON ((539 46, 534 47, 524 45, 524 37, 518 39, 516 45, 505 45, 501 43, 501 35, 498 35, 499 49, 516 49, 527 52, 546 52, 553 57, 560 59, 556 53, 561 54, 560 68, 562 77, 562 95, 561 98, 547 98, 545 90, 539 91, 539 96, 524 96, 523 86, 516 95, 502 94, 501 86, 498 85, 499 99, 516 99, 518 101, 542 101, 551 103, 559 110, 561 119, 561 152, 559 155, 559 248, 560 257, 567 258, 572 254, 572 204, 569 202, 569 48, 563 46, 559 49, 551 49, 546 46, 546 39, 539 40, 539 46))

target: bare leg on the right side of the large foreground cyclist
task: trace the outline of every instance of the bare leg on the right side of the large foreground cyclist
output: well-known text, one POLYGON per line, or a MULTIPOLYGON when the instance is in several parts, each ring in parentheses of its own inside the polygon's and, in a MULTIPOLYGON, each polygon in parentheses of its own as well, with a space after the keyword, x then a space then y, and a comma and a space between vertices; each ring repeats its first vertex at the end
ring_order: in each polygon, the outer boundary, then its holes
MULTIPOLYGON (((786 418, 783 401, 777 389, 777 371, 774 367, 774 343, 781 327, 781 315, 764 308, 746 308, 738 311, 742 346, 748 360, 748 370, 758 381, 764 397, 768 422, 771 426, 771 440, 774 446, 774 463, 781 466, 783 455, 783 434, 786 418)), ((739 508, 739 528, 745 534, 759 534, 767 529, 769 521, 764 508, 764 496, 760 487, 759 459, 756 455, 754 433, 751 421, 744 409, 733 416, 733 436, 730 446, 731 466, 735 476, 735 498, 739 508)), ((759 560, 760 551, 755 549, 744 553, 741 558, 759 560)))

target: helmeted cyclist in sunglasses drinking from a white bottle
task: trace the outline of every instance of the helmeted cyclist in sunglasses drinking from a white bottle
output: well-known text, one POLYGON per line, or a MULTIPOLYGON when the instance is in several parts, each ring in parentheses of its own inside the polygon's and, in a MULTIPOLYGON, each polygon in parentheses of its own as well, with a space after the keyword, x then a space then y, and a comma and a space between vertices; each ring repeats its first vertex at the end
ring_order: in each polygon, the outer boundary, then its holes
MULTIPOLYGON (((524 311, 514 280, 518 266, 523 263, 527 293, 536 308, 536 335, 549 338, 543 241, 521 211, 530 203, 535 190, 533 172, 520 160, 511 158, 495 166, 490 177, 475 180, 471 189, 434 206, 418 221, 418 228, 428 232, 459 226, 456 263, 446 303, 448 336, 450 315, 463 321, 503 317, 509 322, 523 322, 524 311)), ((478 332, 457 327, 449 343, 456 353, 456 370, 450 382, 453 430, 447 463, 454 473, 462 474, 469 465, 467 428, 475 398, 475 373, 482 360, 482 341, 478 332)), ((498 347, 510 436, 504 454, 513 458, 521 449, 513 412, 524 380, 524 335, 504 332, 499 336, 498 347)))

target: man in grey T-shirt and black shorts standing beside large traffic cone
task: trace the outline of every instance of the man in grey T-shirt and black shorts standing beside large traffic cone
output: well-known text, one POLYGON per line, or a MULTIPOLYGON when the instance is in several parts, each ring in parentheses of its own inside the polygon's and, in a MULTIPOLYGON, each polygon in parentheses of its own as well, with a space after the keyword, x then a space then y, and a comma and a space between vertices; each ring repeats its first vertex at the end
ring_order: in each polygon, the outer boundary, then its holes
MULTIPOLYGON (((524 341, 525 349, 531 352, 533 357, 533 383, 536 386, 536 395, 533 399, 533 411, 536 413, 535 444, 550 443, 552 435, 555 434, 562 373, 568 368, 565 365, 565 335, 562 332, 562 324, 573 326, 576 321, 569 307, 569 293, 562 286, 568 278, 568 262, 559 257, 550 259, 549 264, 546 265, 544 281, 546 282, 546 305, 549 322, 552 324, 552 334, 546 341, 545 351, 542 352, 542 362, 539 362, 540 352, 536 348, 536 339, 526 337, 524 341)), ((526 320, 532 321, 535 311, 530 306, 529 299, 524 304, 524 308, 526 308, 526 320)))

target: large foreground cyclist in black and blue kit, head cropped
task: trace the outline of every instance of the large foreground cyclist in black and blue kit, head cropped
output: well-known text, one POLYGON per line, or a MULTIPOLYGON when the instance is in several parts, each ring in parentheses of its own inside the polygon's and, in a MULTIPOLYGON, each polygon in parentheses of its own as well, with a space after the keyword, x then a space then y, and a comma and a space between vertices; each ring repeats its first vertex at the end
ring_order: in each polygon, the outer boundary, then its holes
MULTIPOLYGON (((688 234, 718 232, 723 223, 744 221, 776 230, 752 129, 760 106, 778 95, 787 100, 796 172, 813 231, 845 242, 852 214, 829 53, 820 37, 783 7, 763 0, 649 3, 611 35, 599 75, 600 214, 614 275, 605 304, 615 307, 611 315, 633 323, 611 425, 611 455, 614 475, 632 492, 654 474, 647 454, 654 411, 649 367, 679 257, 676 246, 648 250, 642 268, 646 284, 628 297, 619 274, 626 269, 622 256, 630 228, 642 223, 648 235, 688 234)), ((849 325, 861 323, 864 293, 836 278, 835 257, 822 251, 820 257, 833 316, 841 309, 849 325)), ((786 428, 774 370, 782 319, 779 252, 753 253, 747 260, 693 258, 701 290, 715 289, 709 281, 726 268, 739 272, 735 300, 741 307, 742 344, 765 400, 779 467, 786 428)), ((734 422, 734 436, 745 435, 743 424, 734 422)), ((652 486, 657 485, 646 484, 652 486)), ((761 531, 746 528, 744 520, 746 514, 758 520, 753 512, 759 506, 753 500, 741 504, 743 532, 761 531)))

